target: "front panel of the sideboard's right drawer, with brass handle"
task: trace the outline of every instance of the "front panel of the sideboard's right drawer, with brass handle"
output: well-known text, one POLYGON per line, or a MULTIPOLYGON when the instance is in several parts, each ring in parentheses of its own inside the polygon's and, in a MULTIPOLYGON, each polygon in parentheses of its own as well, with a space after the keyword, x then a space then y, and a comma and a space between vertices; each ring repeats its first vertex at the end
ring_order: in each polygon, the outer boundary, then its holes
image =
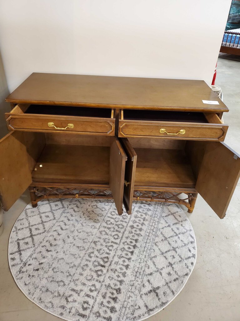
POLYGON ((118 136, 223 141, 227 130, 224 124, 119 120, 118 136))

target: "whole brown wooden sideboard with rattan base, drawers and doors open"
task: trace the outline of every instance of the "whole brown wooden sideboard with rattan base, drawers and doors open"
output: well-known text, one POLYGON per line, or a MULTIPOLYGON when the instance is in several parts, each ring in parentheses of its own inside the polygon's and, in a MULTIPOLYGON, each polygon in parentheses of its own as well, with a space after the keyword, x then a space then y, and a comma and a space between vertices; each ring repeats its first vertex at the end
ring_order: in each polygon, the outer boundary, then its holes
POLYGON ((204 81, 31 74, 6 101, 0 194, 183 204, 200 193, 220 218, 240 176, 224 141, 228 108, 204 81), (204 104, 203 100, 215 101, 204 104))

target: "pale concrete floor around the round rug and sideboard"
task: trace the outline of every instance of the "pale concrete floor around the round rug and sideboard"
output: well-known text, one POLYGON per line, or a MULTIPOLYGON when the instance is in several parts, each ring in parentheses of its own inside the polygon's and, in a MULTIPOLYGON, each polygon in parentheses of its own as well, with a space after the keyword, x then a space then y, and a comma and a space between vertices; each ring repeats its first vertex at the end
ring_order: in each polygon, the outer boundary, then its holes
MULTIPOLYGON (((225 142, 240 153, 240 63, 219 59, 216 84, 230 109, 225 142)), ((61 320, 29 301, 13 281, 8 267, 8 238, 14 222, 28 204, 27 194, 4 214, 0 237, 0 320, 61 320)), ((197 262, 186 286, 164 310, 148 321, 240 321, 240 185, 227 215, 220 220, 199 196, 194 213, 188 214, 197 241, 197 262)))

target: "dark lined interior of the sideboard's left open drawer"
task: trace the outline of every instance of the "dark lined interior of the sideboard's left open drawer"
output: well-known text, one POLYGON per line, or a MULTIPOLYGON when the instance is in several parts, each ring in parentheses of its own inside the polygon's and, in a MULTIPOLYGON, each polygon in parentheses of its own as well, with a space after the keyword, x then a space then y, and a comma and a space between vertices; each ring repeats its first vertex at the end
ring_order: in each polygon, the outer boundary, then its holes
POLYGON ((112 118, 113 113, 110 108, 89 108, 57 105, 30 105, 24 112, 25 114, 41 115, 62 115, 62 116, 81 116, 112 118))

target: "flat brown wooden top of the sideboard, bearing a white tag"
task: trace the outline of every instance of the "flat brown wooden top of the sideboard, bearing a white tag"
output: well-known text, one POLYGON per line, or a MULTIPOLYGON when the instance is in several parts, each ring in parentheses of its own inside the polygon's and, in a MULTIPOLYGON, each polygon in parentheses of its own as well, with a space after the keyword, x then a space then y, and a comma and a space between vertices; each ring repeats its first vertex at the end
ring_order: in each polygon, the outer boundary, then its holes
POLYGON ((203 80, 31 74, 6 101, 101 108, 228 111, 203 80), (202 100, 217 100, 219 105, 202 100))

